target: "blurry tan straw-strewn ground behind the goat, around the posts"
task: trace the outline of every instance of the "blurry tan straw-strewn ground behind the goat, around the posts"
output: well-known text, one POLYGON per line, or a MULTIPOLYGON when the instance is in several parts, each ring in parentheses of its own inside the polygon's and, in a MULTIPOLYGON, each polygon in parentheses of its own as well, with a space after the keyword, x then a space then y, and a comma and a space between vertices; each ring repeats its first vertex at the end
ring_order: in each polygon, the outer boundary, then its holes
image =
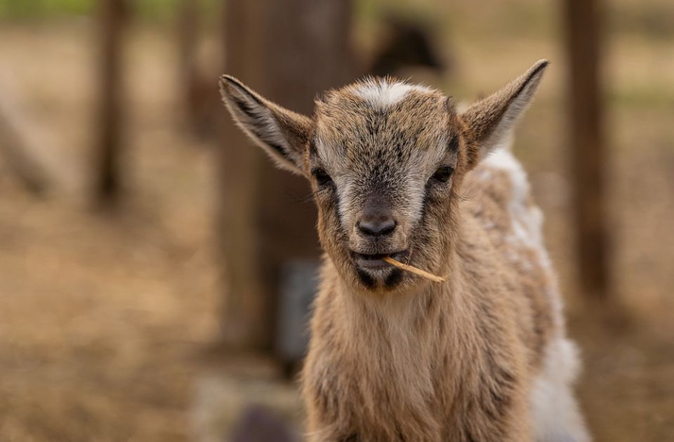
MULTIPOLYGON (((181 130, 170 37, 135 29, 126 199, 117 213, 95 210, 92 32, 85 19, 0 27, 0 86, 34 122, 61 183, 35 198, 0 158, 0 439, 183 441, 197 432, 195 380, 218 337, 216 146, 181 130)), ((461 69, 448 85, 474 97, 553 58, 515 152, 546 213, 583 351, 583 410, 597 441, 674 441, 672 45, 627 34, 607 60, 614 296, 626 318, 607 326, 571 283, 562 55, 550 41, 513 36, 518 50, 507 51, 502 40, 456 39, 461 69)))

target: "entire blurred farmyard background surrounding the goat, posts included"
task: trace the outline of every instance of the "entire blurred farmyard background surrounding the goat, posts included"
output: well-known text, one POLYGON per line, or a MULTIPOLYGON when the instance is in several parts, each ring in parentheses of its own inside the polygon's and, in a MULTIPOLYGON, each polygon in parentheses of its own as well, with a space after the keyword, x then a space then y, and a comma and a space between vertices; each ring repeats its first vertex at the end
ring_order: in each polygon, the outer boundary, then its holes
POLYGON ((294 441, 319 246, 219 103, 552 61, 515 153, 597 441, 674 441, 670 0, 0 0, 0 439, 294 441))

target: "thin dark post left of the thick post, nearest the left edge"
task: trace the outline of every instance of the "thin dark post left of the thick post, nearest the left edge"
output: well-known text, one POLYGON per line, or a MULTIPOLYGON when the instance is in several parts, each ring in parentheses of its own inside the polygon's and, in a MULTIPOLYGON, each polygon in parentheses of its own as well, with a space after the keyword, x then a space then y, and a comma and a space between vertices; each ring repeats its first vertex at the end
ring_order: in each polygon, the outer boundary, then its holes
POLYGON ((119 193, 119 151, 121 144, 121 52, 126 22, 125 0, 100 0, 100 95, 95 133, 95 198, 111 202, 119 193))

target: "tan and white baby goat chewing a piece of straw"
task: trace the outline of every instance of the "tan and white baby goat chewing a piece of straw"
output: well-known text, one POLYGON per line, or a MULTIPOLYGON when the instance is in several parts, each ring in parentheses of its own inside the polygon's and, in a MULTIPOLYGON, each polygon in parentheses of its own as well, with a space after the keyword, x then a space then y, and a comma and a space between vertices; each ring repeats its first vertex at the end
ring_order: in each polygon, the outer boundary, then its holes
POLYGON ((463 112, 371 78, 303 116, 222 77, 234 120, 318 206, 310 441, 589 440, 541 211, 507 146, 547 65, 463 112))

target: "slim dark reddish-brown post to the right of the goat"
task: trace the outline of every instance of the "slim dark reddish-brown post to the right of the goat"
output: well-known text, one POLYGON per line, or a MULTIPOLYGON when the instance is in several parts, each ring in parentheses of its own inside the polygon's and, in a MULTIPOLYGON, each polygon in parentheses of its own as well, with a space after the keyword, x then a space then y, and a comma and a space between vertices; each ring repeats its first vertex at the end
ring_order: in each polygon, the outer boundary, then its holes
POLYGON ((608 296, 603 97, 600 88, 601 20, 596 0, 564 0, 569 59, 569 123, 574 216, 583 295, 608 296))

